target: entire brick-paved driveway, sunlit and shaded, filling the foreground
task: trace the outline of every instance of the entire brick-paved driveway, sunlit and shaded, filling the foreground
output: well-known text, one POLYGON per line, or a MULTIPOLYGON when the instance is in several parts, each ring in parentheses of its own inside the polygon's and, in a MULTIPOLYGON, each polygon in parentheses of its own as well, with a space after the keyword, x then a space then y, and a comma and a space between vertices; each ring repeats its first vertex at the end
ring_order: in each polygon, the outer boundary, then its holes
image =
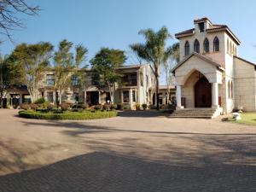
POLYGON ((0 110, 1 192, 256 191, 253 126, 154 113, 90 121, 15 113, 0 110))

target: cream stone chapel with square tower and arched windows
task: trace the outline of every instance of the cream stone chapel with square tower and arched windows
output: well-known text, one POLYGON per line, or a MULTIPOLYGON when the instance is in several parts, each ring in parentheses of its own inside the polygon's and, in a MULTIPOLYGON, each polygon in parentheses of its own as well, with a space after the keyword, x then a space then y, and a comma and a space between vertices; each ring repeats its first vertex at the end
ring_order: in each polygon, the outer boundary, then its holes
POLYGON ((213 116, 256 110, 256 67, 238 56, 241 42, 228 26, 201 18, 175 37, 181 59, 172 69, 177 110, 212 108, 213 116))

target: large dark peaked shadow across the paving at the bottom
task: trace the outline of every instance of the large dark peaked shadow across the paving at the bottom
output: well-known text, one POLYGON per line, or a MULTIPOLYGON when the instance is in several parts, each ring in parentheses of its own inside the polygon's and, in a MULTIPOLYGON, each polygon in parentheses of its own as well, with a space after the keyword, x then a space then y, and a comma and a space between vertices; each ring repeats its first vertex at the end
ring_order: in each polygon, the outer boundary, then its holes
POLYGON ((253 166, 172 166, 111 153, 83 154, 0 177, 1 192, 252 192, 255 187, 253 166))

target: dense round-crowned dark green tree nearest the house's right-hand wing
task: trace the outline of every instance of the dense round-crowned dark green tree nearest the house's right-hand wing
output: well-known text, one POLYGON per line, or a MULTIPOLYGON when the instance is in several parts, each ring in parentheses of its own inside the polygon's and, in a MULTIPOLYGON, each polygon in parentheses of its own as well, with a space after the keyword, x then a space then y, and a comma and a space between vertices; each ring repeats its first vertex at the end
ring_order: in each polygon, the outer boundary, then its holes
POLYGON ((122 74, 117 69, 124 64, 125 60, 123 50, 102 48, 90 61, 93 81, 98 89, 108 87, 110 102, 114 102, 115 84, 121 83, 122 80, 122 74))

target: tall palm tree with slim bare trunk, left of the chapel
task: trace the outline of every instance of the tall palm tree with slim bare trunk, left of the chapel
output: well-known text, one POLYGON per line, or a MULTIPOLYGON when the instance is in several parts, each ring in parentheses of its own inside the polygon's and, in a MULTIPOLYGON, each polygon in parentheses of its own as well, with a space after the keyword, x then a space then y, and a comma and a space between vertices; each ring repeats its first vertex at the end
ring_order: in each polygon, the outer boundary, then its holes
POLYGON ((168 38, 172 38, 172 35, 165 26, 158 32, 146 29, 141 30, 139 34, 144 36, 146 42, 144 44, 131 44, 131 49, 143 60, 148 61, 152 68, 155 78, 156 108, 159 110, 160 64, 166 60, 166 52, 169 51, 169 49, 166 49, 166 41, 168 38))

